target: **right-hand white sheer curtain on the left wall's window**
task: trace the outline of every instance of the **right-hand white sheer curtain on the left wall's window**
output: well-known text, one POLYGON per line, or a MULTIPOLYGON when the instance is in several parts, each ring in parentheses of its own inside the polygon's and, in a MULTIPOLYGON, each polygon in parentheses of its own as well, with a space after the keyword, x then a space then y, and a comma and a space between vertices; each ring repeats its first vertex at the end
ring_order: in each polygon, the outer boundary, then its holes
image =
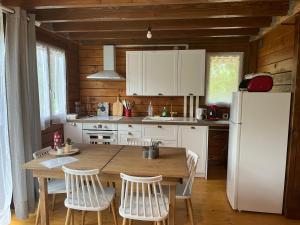
POLYGON ((51 118, 53 123, 66 122, 66 59, 65 52, 49 48, 51 118))

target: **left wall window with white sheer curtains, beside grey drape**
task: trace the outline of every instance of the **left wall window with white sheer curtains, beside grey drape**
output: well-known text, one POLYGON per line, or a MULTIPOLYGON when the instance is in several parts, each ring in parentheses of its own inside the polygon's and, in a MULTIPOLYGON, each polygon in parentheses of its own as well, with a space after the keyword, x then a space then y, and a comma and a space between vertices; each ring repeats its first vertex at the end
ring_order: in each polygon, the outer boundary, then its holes
POLYGON ((50 123, 63 123, 66 118, 66 59, 65 52, 37 44, 37 69, 42 129, 50 123))

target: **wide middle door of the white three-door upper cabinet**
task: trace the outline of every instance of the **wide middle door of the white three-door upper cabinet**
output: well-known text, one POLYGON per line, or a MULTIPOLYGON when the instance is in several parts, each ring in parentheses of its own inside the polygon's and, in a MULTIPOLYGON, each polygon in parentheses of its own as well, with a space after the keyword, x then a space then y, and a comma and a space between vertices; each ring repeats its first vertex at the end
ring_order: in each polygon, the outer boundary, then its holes
POLYGON ((143 52, 143 95, 177 95, 178 51, 143 52))

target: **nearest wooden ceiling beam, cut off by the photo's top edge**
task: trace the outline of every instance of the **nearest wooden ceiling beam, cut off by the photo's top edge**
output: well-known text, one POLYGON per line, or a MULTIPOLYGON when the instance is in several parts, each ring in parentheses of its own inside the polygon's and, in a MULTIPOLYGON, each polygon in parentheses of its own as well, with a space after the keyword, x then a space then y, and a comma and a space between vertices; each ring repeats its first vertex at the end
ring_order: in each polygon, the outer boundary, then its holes
MULTIPOLYGON (((184 4, 215 2, 288 2, 288 0, 184 0, 184 4)), ((2 0, 7 6, 20 6, 25 9, 86 8, 107 6, 175 5, 182 0, 2 0)))

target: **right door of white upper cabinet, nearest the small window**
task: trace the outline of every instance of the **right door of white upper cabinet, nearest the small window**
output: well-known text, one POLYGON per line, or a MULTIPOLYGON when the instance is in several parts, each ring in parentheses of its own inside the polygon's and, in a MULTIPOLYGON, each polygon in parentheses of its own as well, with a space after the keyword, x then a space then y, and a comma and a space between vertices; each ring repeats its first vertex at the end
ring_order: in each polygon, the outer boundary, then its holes
POLYGON ((204 96, 205 50, 180 50, 178 53, 178 95, 204 96))

